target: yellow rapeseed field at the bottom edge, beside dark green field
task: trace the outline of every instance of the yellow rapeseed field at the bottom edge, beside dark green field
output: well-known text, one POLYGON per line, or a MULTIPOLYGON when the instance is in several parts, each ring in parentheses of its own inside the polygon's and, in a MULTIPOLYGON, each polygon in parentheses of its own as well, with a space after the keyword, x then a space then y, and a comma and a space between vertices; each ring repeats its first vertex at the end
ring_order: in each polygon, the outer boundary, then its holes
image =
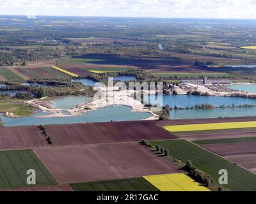
POLYGON ((184 173, 145 176, 143 179, 146 179, 159 191, 210 191, 184 173))

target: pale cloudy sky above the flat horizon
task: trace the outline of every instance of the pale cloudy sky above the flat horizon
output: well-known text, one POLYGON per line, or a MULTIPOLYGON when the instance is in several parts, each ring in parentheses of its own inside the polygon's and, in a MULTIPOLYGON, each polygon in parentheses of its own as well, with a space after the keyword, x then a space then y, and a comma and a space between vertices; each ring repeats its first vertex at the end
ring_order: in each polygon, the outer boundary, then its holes
POLYGON ((256 0, 0 0, 0 15, 256 19, 256 0))

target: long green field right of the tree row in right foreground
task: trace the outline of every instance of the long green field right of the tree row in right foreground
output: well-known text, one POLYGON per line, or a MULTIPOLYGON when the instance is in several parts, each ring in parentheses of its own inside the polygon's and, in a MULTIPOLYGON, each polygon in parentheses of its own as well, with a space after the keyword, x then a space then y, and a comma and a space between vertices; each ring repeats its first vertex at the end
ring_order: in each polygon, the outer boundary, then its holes
POLYGON ((153 145, 161 145, 170 150, 170 155, 183 163, 190 160, 193 165, 209 174, 215 183, 218 183, 219 170, 228 171, 228 185, 226 189, 231 191, 256 191, 256 174, 244 168, 236 166, 208 150, 186 140, 166 140, 150 142, 153 145))

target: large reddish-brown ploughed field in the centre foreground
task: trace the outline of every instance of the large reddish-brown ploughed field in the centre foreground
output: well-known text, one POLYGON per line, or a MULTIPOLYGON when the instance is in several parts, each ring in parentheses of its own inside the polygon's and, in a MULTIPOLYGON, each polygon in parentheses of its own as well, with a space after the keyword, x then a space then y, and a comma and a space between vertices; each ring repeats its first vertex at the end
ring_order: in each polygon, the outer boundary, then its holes
POLYGON ((177 166, 137 142, 36 149, 60 184, 176 173, 177 166))

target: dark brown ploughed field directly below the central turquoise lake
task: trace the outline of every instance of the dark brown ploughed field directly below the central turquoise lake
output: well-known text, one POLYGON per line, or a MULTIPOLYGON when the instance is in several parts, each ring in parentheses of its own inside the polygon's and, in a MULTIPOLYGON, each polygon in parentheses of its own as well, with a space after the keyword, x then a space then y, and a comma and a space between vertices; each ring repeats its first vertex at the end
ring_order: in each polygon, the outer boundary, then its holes
POLYGON ((154 120, 128 122, 99 122, 88 124, 62 124, 45 126, 52 142, 57 146, 97 143, 139 142, 171 140, 177 138, 156 126, 154 120))

